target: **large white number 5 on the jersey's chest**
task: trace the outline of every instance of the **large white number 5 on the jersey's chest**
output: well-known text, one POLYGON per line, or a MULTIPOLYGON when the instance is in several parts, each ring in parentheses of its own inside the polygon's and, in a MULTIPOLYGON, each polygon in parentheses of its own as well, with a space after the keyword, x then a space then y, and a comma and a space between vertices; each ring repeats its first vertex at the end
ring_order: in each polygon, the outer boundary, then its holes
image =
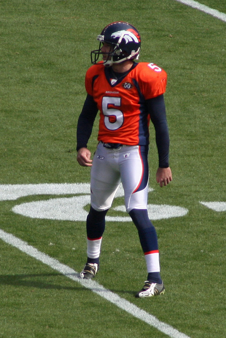
POLYGON ((105 126, 110 130, 116 130, 121 127, 123 123, 123 114, 120 110, 115 108, 109 108, 109 104, 120 107, 121 98, 120 97, 109 97, 104 96, 102 99, 102 111, 105 115, 104 123, 105 126))

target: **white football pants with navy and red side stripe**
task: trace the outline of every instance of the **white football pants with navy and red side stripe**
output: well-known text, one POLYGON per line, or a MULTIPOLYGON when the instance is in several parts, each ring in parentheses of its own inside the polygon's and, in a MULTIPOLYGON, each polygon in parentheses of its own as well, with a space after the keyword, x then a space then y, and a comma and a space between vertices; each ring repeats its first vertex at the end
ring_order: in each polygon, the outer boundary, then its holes
POLYGON ((127 212, 132 209, 147 209, 147 163, 147 159, 142 159, 140 146, 123 145, 118 149, 108 149, 99 142, 91 167, 93 209, 109 209, 120 182, 125 192, 127 212))

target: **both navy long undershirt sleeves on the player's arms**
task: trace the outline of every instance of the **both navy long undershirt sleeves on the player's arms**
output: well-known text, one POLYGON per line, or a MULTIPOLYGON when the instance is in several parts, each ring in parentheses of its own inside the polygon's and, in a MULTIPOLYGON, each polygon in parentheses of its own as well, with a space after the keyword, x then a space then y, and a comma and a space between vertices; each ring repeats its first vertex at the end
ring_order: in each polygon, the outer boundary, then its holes
MULTIPOLYGON (((155 127, 155 138, 159 156, 159 167, 169 166, 169 133, 166 121, 165 103, 163 95, 146 100, 146 107, 151 121, 155 127)), ((93 97, 87 94, 82 112, 77 124, 77 148, 87 147, 92 133, 93 123, 98 112, 97 104, 93 97)))

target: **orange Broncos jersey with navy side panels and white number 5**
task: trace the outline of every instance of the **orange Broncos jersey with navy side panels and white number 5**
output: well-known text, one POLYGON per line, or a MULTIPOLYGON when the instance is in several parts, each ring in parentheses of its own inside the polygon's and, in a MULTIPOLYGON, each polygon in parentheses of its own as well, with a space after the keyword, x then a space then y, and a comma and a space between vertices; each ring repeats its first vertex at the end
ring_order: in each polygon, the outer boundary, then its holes
POLYGON ((145 100, 162 95, 166 79, 166 72, 153 63, 134 64, 129 73, 117 81, 111 80, 109 69, 101 63, 91 66, 85 86, 100 111, 98 141, 149 144, 150 117, 145 100))

